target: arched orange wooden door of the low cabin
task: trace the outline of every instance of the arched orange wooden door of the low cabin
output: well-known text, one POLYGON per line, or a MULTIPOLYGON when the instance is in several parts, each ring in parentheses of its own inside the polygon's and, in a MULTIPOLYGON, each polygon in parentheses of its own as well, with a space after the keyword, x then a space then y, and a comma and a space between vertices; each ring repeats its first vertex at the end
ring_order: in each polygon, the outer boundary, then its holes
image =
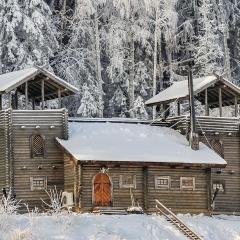
POLYGON ((108 175, 99 173, 94 178, 95 206, 110 206, 112 202, 111 182, 108 175))

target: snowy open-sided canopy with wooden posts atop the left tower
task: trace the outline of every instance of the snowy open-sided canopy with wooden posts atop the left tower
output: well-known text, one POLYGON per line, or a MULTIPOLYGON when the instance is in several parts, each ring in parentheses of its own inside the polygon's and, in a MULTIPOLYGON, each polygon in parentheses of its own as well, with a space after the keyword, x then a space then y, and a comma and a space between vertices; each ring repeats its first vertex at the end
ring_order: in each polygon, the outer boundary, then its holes
POLYGON ((18 94, 25 95, 25 106, 32 102, 42 103, 47 100, 59 99, 74 95, 78 89, 46 69, 33 67, 0 75, 0 109, 2 109, 2 96, 8 95, 9 108, 18 108, 18 94))

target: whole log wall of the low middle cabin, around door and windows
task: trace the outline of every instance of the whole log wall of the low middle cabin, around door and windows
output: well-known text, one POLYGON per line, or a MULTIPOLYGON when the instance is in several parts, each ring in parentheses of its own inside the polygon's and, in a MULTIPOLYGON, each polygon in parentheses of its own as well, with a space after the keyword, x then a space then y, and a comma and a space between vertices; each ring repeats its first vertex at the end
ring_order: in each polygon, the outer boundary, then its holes
MULTIPOLYGON (((64 190, 74 192, 74 164, 70 157, 65 156, 65 182, 64 190)), ((100 164, 82 163, 82 176, 80 205, 83 211, 93 208, 92 183, 94 176, 100 172, 100 164)), ((106 166, 105 166, 106 167, 106 166)), ((147 211, 155 211, 155 199, 166 204, 177 212, 207 212, 210 206, 209 175, 207 169, 170 168, 167 166, 142 167, 137 165, 109 165, 107 166, 112 182, 112 206, 128 208, 131 206, 129 188, 120 188, 120 175, 136 175, 136 189, 132 189, 135 201, 147 211), (155 189, 155 176, 170 176, 171 188, 169 190, 155 189), (180 190, 180 177, 195 177, 196 189, 180 190)))

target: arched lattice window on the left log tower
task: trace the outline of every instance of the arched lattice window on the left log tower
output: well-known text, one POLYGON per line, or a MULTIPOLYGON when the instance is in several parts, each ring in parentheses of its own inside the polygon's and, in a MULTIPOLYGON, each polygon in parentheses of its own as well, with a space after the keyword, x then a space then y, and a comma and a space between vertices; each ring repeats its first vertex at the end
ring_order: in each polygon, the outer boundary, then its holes
POLYGON ((32 135, 30 139, 31 143, 31 157, 45 157, 45 137, 37 134, 32 135))

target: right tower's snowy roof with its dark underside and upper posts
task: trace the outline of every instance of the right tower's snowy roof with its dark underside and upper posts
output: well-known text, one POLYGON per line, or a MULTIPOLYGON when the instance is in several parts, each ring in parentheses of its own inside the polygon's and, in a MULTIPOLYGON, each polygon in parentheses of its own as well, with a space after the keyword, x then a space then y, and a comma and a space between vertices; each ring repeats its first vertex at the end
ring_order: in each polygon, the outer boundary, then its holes
MULTIPOLYGON (((227 79, 212 75, 193 80, 193 90, 196 99, 204 104, 205 90, 207 89, 208 105, 211 108, 219 107, 219 88, 222 89, 223 106, 234 105, 235 97, 237 97, 237 101, 240 103, 240 88, 227 79)), ((174 82, 169 88, 146 101, 146 105, 153 106, 161 103, 171 103, 175 100, 186 100, 188 97, 188 81, 183 80, 174 82)))

